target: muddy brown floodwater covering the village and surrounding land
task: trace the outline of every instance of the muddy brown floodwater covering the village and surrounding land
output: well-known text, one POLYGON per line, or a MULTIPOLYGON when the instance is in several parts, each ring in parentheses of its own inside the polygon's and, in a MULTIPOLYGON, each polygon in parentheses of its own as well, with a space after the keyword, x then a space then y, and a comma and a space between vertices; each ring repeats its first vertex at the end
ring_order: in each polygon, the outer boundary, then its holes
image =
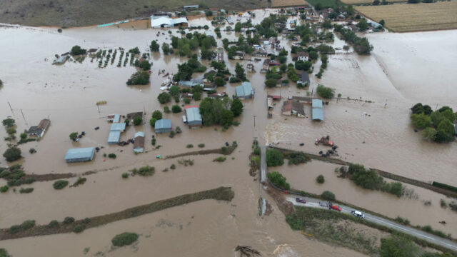
MULTIPOLYGON (((274 11, 255 12, 256 19, 253 19, 253 23, 257 24, 274 11)), ((240 18, 241 21, 246 19, 246 16, 240 18)), ((191 26, 204 24, 209 25, 211 30, 214 28, 206 18, 191 20, 191 26)), ((69 233, 0 241, 0 247, 6 248, 14 256, 84 256, 86 247, 90 247, 89 256, 94 256, 97 252, 106 256, 126 256, 134 252, 138 256, 150 256, 152 252, 167 256, 214 256, 215 253, 218 256, 234 256, 233 250, 238 245, 252 246, 261 251, 263 256, 363 256, 348 249, 334 248, 309 240, 301 233, 291 231, 276 206, 273 206, 274 211, 270 216, 258 218, 257 202, 261 192, 258 181, 248 174, 247 158, 254 137, 262 144, 279 143, 297 149, 298 143, 303 141, 303 150, 314 152, 320 149, 313 146, 314 138, 329 134, 340 146, 341 158, 347 161, 425 181, 457 184, 457 163, 455 158, 451 158, 455 156, 456 143, 438 145, 424 142, 418 134, 413 133, 408 120, 408 108, 416 101, 432 106, 448 104, 454 109, 457 107, 453 106, 456 103, 453 102, 455 97, 452 97, 456 96, 457 91, 455 87, 449 86, 456 81, 456 74, 448 72, 456 59, 456 52, 450 49, 450 43, 446 43, 446 40, 457 38, 456 31, 373 34, 368 36, 375 46, 372 56, 331 56, 323 79, 317 81, 311 76, 311 87, 323 83, 336 88, 343 97, 362 96, 363 99, 370 99, 375 103, 331 101, 324 107, 326 121, 321 124, 312 123, 309 118, 286 119, 280 116, 281 104, 275 107, 273 119, 267 120, 268 93, 282 96, 306 93, 293 86, 265 90, 264 75, 258 72, 262 61, 253 63, 257 72, 248 73, 248 79, 255 89, 255 98, 243 101, 243 114, 237 118, 240 126, 233 126, 224 132, 220 127, 190 130, 182 124, 181 114, 164 114, 165 118, 171 119, 172 126, 181 126, 183 133, 175 138, 169 138, 168 135, 156 136, 156 143, 162 147, 153 150, 150 139, 154 130, 149 126, 149 118, 154 110, 162 110, 164 107, 157 101, 157 95, 161 92, 159 87, 164 81, 158 71, 164 69, 166 72, 175 73, 176 64, 186 61, 186 58, 151 54, 151 61, 154 63, 151 84, 146 86, 126 86, 125 81, 135 69, 129 64, 126 67, 116 67, 119 50, 114 64, 108 64, 104 69, 99 69, 97 61, 91 62, 89 58, 81 64, 67 61, 63 66, 51 65, 55 54, 63 54, 76 44, 86 49, 104 50, 119 47, 128 50, 138 46, 143 53, 149 51, 151 40, 157 39, 159 44, 169 42, 170 35, 166 29, 146 29, 147 27, 144 21, 136 21, 119 27, 64 29, 61 34, 54 28, 0 27, 0 79, 4 81, 4 86, 0 88, 1 119, 6 116, 16 119, 18 136, 21 131, 38 124, 41 119, 48 116, 51 119, 51 126, 41 141, 19 146, 24 158, 17 163, 22 164, 26 172, 38 174, 99 171, 87 176, 86 183, 77 188, 56 191, 52 188, 53 182, 47 181, 31 184, 35 190, 30 194, 20 194, 12 190, 2 193, 0 227, 9 227, 26 219, 35 219, 39 224, 46 224, 53 219, 61 221, 66 216, 96 216, 217 186, 231 186, 235 191, 235 198, 231 203, 190 203, 101 228, 91 228, 81 235, 69 233), (158 31, 161 34, 157 37, 158 31), (436 46, 433 52, 426 48, 430 44, 436 46), (422 61, 422 58, 428 62, 422 61), (403 69, 398 71, 397 66, 403 69), (436 66, 443 69, 436 69, 436 66), (422 71, 420 74, 433 71, 439 79, 433 76, 418 76, 416 71, 422 71), (403 72, 407 73, 407 76, 403 72), (439 91, 432 89, 443 89, 446 94, 438 94, 439 91), (387 109, 383 109, 382 103, 385 99, 388 99, 387 109), (97 101, 107 101, 107 104, 97 109, 97 101), (8 103, 11 104, 12 111, 8 103), (144 124, 129 126, 122 133, 121 140, 133 137, 136 131, 144 131, 146 153, 139 155, 134 155, 131 145, 121 147, 109 146, 106 143, 109 124, 105 117, 108 114, 127 114, 134 111, 146 111, 144 124), (363 112, 371 116, 361 116, 363 112), (96 126, 100 127, 97 131, 94 130, 96 126), (69 133, 72 131, 85 131, 86 136, 78 143, 71 142, 69 133), (177 165, 176 170, 162 172, 164 168, 171 166, 171 163, 177 164, 178 160, 156 159, 156 155, 166 156, 190 151, 186 148, 189 143, 194 144, 195 148, 191 149, 194 151, 199 143, 205 143, 205 148, 209 149, 219 148, 226 141, 237 141, 238 148, 224 163, 213 162, 218 156, 215 154, 189 156, 186 158, 194 159, 194 166, 177 165), (363 141, 365 143, 362 143, 363 141), (64 162, 68 148, 85 146, 104 148, 96 153, 94 161, 89 163, 64 162), (29 148, 32 147, 37 153, 29 153, 29 148), (117 158, 104 159, 103 153, 116 153, 117 158), (156 167, 154 176, 136 176, 126 180, 121 178, 121 173, 146 164, 156 167), (132 247, 111 249, 111 238, 124 231, 141 234, 139 243, 132 247)), ((177 29, 171 31, 173 35, 179 36, 177 29)), ((222 31, 222 35, 222 38, 230 40, 239 36, 233 31, 222 31)), ((290 42, 284 43, 281 36, 279 39, 286 49, 290 49, 290 42)), ((221 40, 218 40, 218 45, 222 46, 221 40)), ((336 39, 334 45, 341 47, 343 41, 336 39)), ((250 57, 247 56, 246 59, 250 57)), ((236 61, 225 61, 233 71, 236 61)), ((246 65, 248 61, 241 62, 246 65)), ((203 63, 209 66, 208 61, 203 63)), ((316 64, 316 69, 318 65, 316 64)), ((196 74, 195 77, 202 75, 196 74)), ((225 91, 231 96, 235 93, 236 86, 238 84, 227 84, 217 90, 225 91)), ((306 109, 307 114, 309 111, 306 109)), ((0 137, 4 136, 6 131, 0 129, 0 137)), ((0 152, 3 153, 6 148, 6 141, 0 141, 0 152)), ((330 171, 326 172, 333 172, 332 167, 313 168, 314 163, 317 162, 290 169, 285 166, 283 172, 291 177, 296 176, 297 179, 301 178, 296 171, 299 167, 309 167, 310 173, 320 171, 321 168, 329 168, 330 171)), ((0 166, 11 164, 13 163, 6 163, 1 159, 0 166)), ((73 183, 76 178, 69 181, 73 183)), ((328 177, 328 184, 334 183, 332 181, 337 180, 328 177)), ((5 183, 6 181, 2 180, 0 186, 5 183)), ((357 193, 358 188, 351 188, 349 183, 344 182, 346 186, 341 188, 341 192, 357 193)), ((313 189, 312 183, 297 183, 296 186, 310 187, 309 191, 318 191, 318 188, 313 189)), ((340 195, 338 192, 337 196, 340 195)), ((418 194, 421 199, 433 199, 433 203, 439 198, 432 196, 430 191, 418 190, 418 194)), ((353 203, 350 195, 347 197, 344 200, 353 203)), ((268 196, 266 198, 273 203, 268 196)), ((376 198, 379 201, 392 200, 383 195, 376 195, 376 198)), ((363 207, 374 207, 368 198, 357 199, 363 207)), ((412 201, 410 203, 410 200, 405 200, 403 203, 417 206, 412 201)), ((431 208, 436 209, 436 205, 431 208)), ((402 216, 418 224, 425 221, 426 215, 433 215, 434 221, 442 212, 426 213, 421 214, 414 210, 408 212, 407 208, 401 210, 402 216)), ((453 213, 443 213, 455 216, 453 213)))

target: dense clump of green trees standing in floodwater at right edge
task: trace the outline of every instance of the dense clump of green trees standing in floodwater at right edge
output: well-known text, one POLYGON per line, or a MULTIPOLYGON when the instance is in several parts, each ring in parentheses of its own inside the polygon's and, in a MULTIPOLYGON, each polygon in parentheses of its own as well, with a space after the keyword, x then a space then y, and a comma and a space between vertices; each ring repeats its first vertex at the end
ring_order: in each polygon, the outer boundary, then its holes
POLYGON ((411 108, 411 123, 416 129, 423 129, 422 136, 438 143, 454 140, 455 128, 453 122, 457 114, 449 106, 443 106, 433 111, 430 106, 421 103, 411 108))

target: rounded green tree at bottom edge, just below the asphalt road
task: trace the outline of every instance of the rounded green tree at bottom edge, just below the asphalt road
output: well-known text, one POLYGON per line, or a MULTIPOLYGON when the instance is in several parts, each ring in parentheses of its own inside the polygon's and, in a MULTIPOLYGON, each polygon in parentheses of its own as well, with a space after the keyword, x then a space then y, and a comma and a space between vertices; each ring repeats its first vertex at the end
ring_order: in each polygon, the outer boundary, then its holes
POLYGON ((418 248, 411 239, 401 236, 381 238, 381 257, 415 257, 418 248))

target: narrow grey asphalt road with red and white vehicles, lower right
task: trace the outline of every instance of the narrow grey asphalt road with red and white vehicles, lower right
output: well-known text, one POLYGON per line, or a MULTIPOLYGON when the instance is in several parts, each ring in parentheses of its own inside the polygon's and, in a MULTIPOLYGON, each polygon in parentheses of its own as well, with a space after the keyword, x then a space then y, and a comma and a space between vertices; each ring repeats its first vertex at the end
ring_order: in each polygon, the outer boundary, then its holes
MULTIPOLYGON (((301 196, 299 196, 299 197, 301 197, 301 196)), ((303 197, 301 197, 301 198, 303 198, 303 197)), ((319 205, 319 201, 321 201, 319 199, 309 198, 309 197, 304 197, 304 198, 306 200, 306 203, 298 203, 298 202, 296 202, 296 197, 293 197, 293 196, 288 196, 287 197, 287 201, 290 201, 295 206, 328 209, 328 207, 322 207, 322 206, 319 205)), ((342 213, 346 213, 348 215, 352 215, 351 211, 353 211, 353 208, 350 208, 348 206, 339 205, 339 204, 338 204, 338 206, 341 207, 341 212, 342 213)), ((334 211, 334 210, 332 210, 332 211, 334 211)), ((435 235, 432 235, 430 233, 426 233, 424 231, 420 231, 420 230, 418 230, 416 228, 403 226, 403 225, 398 224, 396 222, 389 221, 389 220, 386 220, 385 218, 374 216, 374 215, 371 215, 369 213, 365 213, 365 219, 367 221, 372 221, 374 223, 378 223, 380 225, 383 225, 383 226, 386 226, 386 227, 389 227, 389 228, 393 228, 393 229, 395 229, 397 231, 401 231, 403 233, 407 233, 407 234, 409 234, 411 236, 416 236, 417 238, 421 238, 421 239, 426 240, 426 241, 428 241, 430 243, 434 243, 434 244, 436 244, 438 246, 443 246, 443 247, 446 247, 446 248, 451 249, 453 251, 457 251, 457 243, 454 242, 454 241, 448 240, 446 238, 441 238, 439 236, 435 236, 435 235)))

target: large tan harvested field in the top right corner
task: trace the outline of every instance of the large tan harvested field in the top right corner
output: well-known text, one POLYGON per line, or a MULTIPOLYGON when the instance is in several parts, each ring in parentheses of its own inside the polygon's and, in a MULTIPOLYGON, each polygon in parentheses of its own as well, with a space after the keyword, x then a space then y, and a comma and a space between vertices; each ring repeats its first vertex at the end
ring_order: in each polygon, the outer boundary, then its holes
POLYGON ((394 4, 387 6, 357 6, 357 11, 369 19, 386 21, 395 32, 457 29, 457 2, 433 4, 394 4))

